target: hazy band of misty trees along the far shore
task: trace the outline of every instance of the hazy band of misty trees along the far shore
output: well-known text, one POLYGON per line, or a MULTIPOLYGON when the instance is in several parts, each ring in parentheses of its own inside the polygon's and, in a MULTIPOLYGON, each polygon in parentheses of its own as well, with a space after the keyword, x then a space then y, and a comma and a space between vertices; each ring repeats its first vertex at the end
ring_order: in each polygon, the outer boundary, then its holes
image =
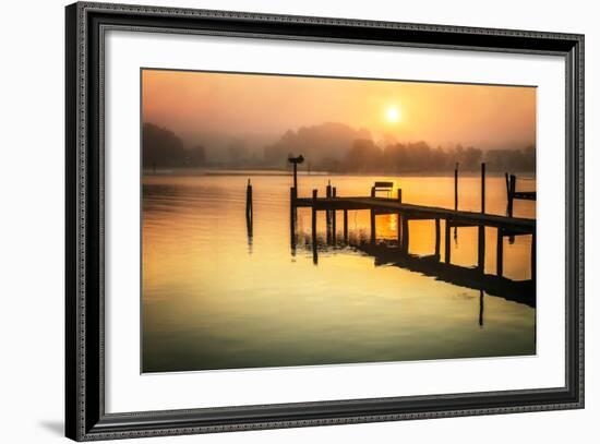
MULTIPOLYGON (((219 142, 219 155, 211 156, 205 141, 183 143, 175 132, 154 123, 143 127, 143 166, 152 168, 287 168, 287 158, 302 154, 302 169, 348 173, 444 172, 456 164, 477 171, 482 161, 490 171, 535 171, 533 145, 481 149, 460 144, 433 147, 424 141, 374 141, 370 131, 344 123, 323 123, 288 130, 272 143, 252 146, 243 137, 219 142)), ((209 142, 209 140, 207 140, 209 142)))

